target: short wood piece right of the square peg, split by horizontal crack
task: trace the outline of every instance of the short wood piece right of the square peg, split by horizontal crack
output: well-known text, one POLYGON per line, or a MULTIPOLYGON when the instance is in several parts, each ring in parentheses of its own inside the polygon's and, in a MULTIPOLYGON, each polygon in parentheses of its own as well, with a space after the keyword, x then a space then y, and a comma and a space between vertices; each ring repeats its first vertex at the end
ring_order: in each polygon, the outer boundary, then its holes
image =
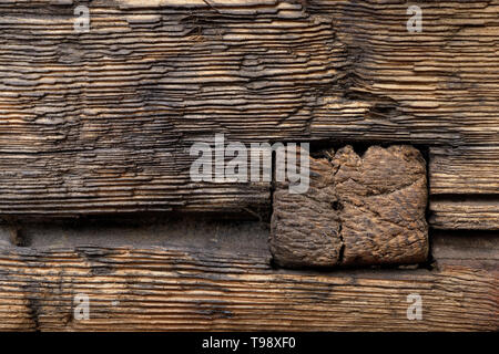
POLYGON ((499 230, 499 145, 431 147, 429 222, 499 230))

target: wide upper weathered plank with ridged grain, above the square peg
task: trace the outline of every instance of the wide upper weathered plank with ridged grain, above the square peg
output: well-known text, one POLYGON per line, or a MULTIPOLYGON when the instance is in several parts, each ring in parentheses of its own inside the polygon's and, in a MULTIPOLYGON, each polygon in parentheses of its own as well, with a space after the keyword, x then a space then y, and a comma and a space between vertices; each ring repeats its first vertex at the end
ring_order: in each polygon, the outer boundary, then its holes
POLYGON ((498 144, 497 0, 421 3, 421 33, 403 0, 100 0, 89 33, 62 3, 0 3, 3 215, 268 208, 268 184, 190 180, 215 132, 498 144))

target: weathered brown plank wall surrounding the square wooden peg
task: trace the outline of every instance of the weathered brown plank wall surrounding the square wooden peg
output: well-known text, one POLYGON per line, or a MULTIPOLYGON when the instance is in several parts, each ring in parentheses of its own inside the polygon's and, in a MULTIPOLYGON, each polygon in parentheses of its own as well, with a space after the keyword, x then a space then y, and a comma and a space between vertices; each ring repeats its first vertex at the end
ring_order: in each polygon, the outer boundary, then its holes
POLYGON ((499 331, 499 0, 421 1, 420 33, 405 0, 94 0, 89 33, 78 3, 0 1, 0 330, 499 331), (215 133, 417 147, 429 260, 278 268, 265 218, 196 214, 273 207, 191 180, 215 133))

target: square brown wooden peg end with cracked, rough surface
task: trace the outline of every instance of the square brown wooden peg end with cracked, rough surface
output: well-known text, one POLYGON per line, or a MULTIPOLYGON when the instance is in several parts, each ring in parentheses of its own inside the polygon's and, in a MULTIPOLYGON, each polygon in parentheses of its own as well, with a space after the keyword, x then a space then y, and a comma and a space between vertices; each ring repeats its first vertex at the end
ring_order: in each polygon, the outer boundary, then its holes
POLYGON ((426 163, 410 146, 350 146, 310 158, 310 188, 274 191, 271 250, 285 267, 417 263, 427 259, 426 163))

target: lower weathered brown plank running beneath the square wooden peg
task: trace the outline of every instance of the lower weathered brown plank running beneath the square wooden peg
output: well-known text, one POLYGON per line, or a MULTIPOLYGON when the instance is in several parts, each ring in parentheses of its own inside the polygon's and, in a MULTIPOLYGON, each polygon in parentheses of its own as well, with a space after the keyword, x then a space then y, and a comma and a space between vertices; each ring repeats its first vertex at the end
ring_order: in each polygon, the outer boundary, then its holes
POLYGON ((304 272, 273 269, 258 227, 184 221, 35 226, 28 248, 0 232, 0 329, 499 330, 497 235, 436 235, 434 270, 304 272), (82 293, 88 321, 73 316, 82 293), (406 315, 411 293, 420 321, 406 315))

